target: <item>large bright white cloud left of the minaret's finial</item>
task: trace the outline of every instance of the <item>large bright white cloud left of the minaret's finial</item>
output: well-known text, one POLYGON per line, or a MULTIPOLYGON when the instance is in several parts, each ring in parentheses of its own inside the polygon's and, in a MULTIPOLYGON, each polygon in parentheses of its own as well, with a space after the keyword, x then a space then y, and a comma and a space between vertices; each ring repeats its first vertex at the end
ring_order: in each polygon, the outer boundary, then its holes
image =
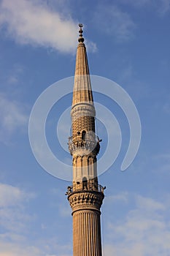
POLYGON ((75 49, 77 23, 53 11, 44 1, 2 0, 0 24, 20 44, 40 45, 61 52, 75 49))

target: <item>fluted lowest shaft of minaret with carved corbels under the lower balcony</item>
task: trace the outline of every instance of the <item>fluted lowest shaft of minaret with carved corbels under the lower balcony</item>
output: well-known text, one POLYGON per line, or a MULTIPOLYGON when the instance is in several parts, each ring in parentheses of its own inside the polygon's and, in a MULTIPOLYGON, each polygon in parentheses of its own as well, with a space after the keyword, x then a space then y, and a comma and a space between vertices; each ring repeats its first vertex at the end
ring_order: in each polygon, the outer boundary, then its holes
POLYGON ((73 255, 101 256, 100 208, 103 192, 73 192, 68 196, 73 216, 73 255))

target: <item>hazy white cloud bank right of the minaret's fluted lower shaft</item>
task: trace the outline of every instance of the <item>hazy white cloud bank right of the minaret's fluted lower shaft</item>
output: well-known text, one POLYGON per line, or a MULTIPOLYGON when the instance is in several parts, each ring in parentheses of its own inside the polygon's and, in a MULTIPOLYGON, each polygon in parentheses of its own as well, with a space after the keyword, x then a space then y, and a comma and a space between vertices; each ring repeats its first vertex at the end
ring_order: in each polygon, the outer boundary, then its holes
MULTIPOLYGON (((109 217, 104 255, 169 255, 169 202, 141 195, 128 195, 133 205, 121 219, 109 217)), ((117 208, 117 211, 120 211, 117 208)))

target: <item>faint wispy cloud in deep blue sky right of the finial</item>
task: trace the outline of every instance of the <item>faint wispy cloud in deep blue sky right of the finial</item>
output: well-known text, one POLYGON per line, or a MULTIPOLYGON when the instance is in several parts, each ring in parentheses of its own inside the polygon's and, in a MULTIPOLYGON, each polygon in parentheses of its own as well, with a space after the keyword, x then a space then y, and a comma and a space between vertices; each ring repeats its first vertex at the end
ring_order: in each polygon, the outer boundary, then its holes
POLYGON ((121 11, 115 5, 100 5, 93 15, 93 22, 98 29, 109 34, 111 39, 122 42, 134 37, 134 21, 127 12, 121 11))

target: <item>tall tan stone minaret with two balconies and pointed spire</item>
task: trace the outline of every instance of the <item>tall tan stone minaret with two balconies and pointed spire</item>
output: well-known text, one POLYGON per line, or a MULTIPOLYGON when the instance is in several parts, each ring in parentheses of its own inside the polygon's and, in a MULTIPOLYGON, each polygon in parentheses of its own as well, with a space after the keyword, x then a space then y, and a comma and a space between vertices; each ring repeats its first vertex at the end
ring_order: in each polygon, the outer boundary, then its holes
POLYGON ((66 194, 72 207, 73 256, 101 256, 100 208, 104 187, 98 184, 96 156, 100 146, 95 133, 96 111, 82 24, 79 26, 71 111, 72 137, 69 138, 73 182, 66 194))

